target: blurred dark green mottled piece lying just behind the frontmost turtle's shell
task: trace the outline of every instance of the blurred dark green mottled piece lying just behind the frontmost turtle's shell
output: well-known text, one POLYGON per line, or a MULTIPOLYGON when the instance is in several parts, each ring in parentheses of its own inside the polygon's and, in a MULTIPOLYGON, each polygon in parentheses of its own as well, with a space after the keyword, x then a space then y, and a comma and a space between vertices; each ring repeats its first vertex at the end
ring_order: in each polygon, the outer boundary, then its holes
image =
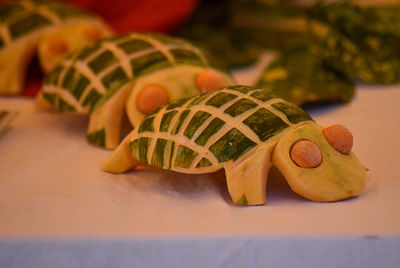
POLYGON ((264 70, 258 87, 269 88, 297 105, 315 101, 349 102, 354 84, 332 69, 307 46, 282 53, 264 70))

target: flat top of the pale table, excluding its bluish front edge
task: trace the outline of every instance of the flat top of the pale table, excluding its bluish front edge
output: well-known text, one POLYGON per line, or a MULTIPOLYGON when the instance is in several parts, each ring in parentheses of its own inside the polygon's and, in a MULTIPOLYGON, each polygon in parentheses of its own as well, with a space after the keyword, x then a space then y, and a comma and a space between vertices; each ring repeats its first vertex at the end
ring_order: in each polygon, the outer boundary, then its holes
MULTIPOLYGON (((259 69, 238 70, 235 76, 251 83, 259 69)), ((399 85, 359 84, 348 105, 307 109, 323 126, 351 129, 353 152, 369 168, 361 196, 311 202, 293 193, 273 169, 267 204, 238 207, 230 200, 223 171, 106 173, 99 166, 110 151, 86 142, 86 116, 39 111, 32 99, 1 97, 0 109, 19 115, 0 137, 0 237, 398 239, 399 101, 399 85)))

